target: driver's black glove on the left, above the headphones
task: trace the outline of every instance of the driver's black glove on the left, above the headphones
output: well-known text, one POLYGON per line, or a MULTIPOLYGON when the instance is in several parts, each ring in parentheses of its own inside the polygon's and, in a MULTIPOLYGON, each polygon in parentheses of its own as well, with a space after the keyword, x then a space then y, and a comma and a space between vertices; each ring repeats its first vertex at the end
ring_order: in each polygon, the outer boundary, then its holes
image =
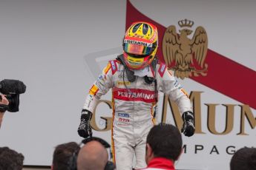
POLYGON ((85 138, 89 136, 92 137, 93 132, 91 132, 91 124, 90 124, 92 115, 93 115, 92 112, 86 109, 82 109, 81 122, 77 129, 77 132, 80 137, 85 137, 85 138))

